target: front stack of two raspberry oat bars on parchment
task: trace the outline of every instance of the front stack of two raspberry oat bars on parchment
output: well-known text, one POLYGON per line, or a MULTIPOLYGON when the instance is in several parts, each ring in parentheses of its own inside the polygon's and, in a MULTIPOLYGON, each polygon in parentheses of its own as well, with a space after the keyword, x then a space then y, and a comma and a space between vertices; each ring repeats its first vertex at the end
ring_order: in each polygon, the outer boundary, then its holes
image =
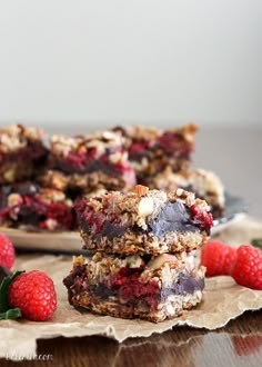
POLYGON ((63 280, 71 305, 158 323, 201 301, 204 268, 194 251, 212 226, 204 200, 139 185, 84 198, 75 211, 83 248, 93 256, 74 258, 63 280))

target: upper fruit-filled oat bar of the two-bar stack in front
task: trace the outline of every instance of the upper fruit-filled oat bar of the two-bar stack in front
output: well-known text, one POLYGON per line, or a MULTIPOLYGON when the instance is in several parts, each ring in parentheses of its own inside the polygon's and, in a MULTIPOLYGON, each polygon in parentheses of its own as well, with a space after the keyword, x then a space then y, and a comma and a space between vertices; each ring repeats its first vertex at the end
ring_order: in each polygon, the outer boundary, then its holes
POLYGON ((162 254, 191 250, 210 234, 212 215, 204 200, 178 189, 167 194, 138 185, 74 205, 83 248, 108 254, 162 254))

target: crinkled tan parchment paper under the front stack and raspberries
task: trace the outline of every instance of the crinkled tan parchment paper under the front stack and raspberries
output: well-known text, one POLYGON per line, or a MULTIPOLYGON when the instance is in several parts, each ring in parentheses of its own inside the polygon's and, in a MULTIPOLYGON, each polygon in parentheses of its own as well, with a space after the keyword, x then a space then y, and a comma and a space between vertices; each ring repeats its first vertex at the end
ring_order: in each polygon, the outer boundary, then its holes
MULTIPOLYGON (((232 246, 249 244, 252 238, 262 237, 262 222, 244 218, 215 237, 232 246)), ((153 333, 163 333, 180 325, 212 330, 226 325, 245 310, 262 308, 262 291, 238 286, 230 277, 214 277, 206 279, 202 304, 172 320, 152 324, 97 316, 88 311, 80 313, 68 304, 62 279, 71 269, 70 256, 20 255, 16 268, 27 271, 39 269, 52 277, 58 294, 58 309, 46 323, 1 320, 0 357, 32 356, 39 338, 104 335, 123 341, 129 337, 148 337, 153 333)))

